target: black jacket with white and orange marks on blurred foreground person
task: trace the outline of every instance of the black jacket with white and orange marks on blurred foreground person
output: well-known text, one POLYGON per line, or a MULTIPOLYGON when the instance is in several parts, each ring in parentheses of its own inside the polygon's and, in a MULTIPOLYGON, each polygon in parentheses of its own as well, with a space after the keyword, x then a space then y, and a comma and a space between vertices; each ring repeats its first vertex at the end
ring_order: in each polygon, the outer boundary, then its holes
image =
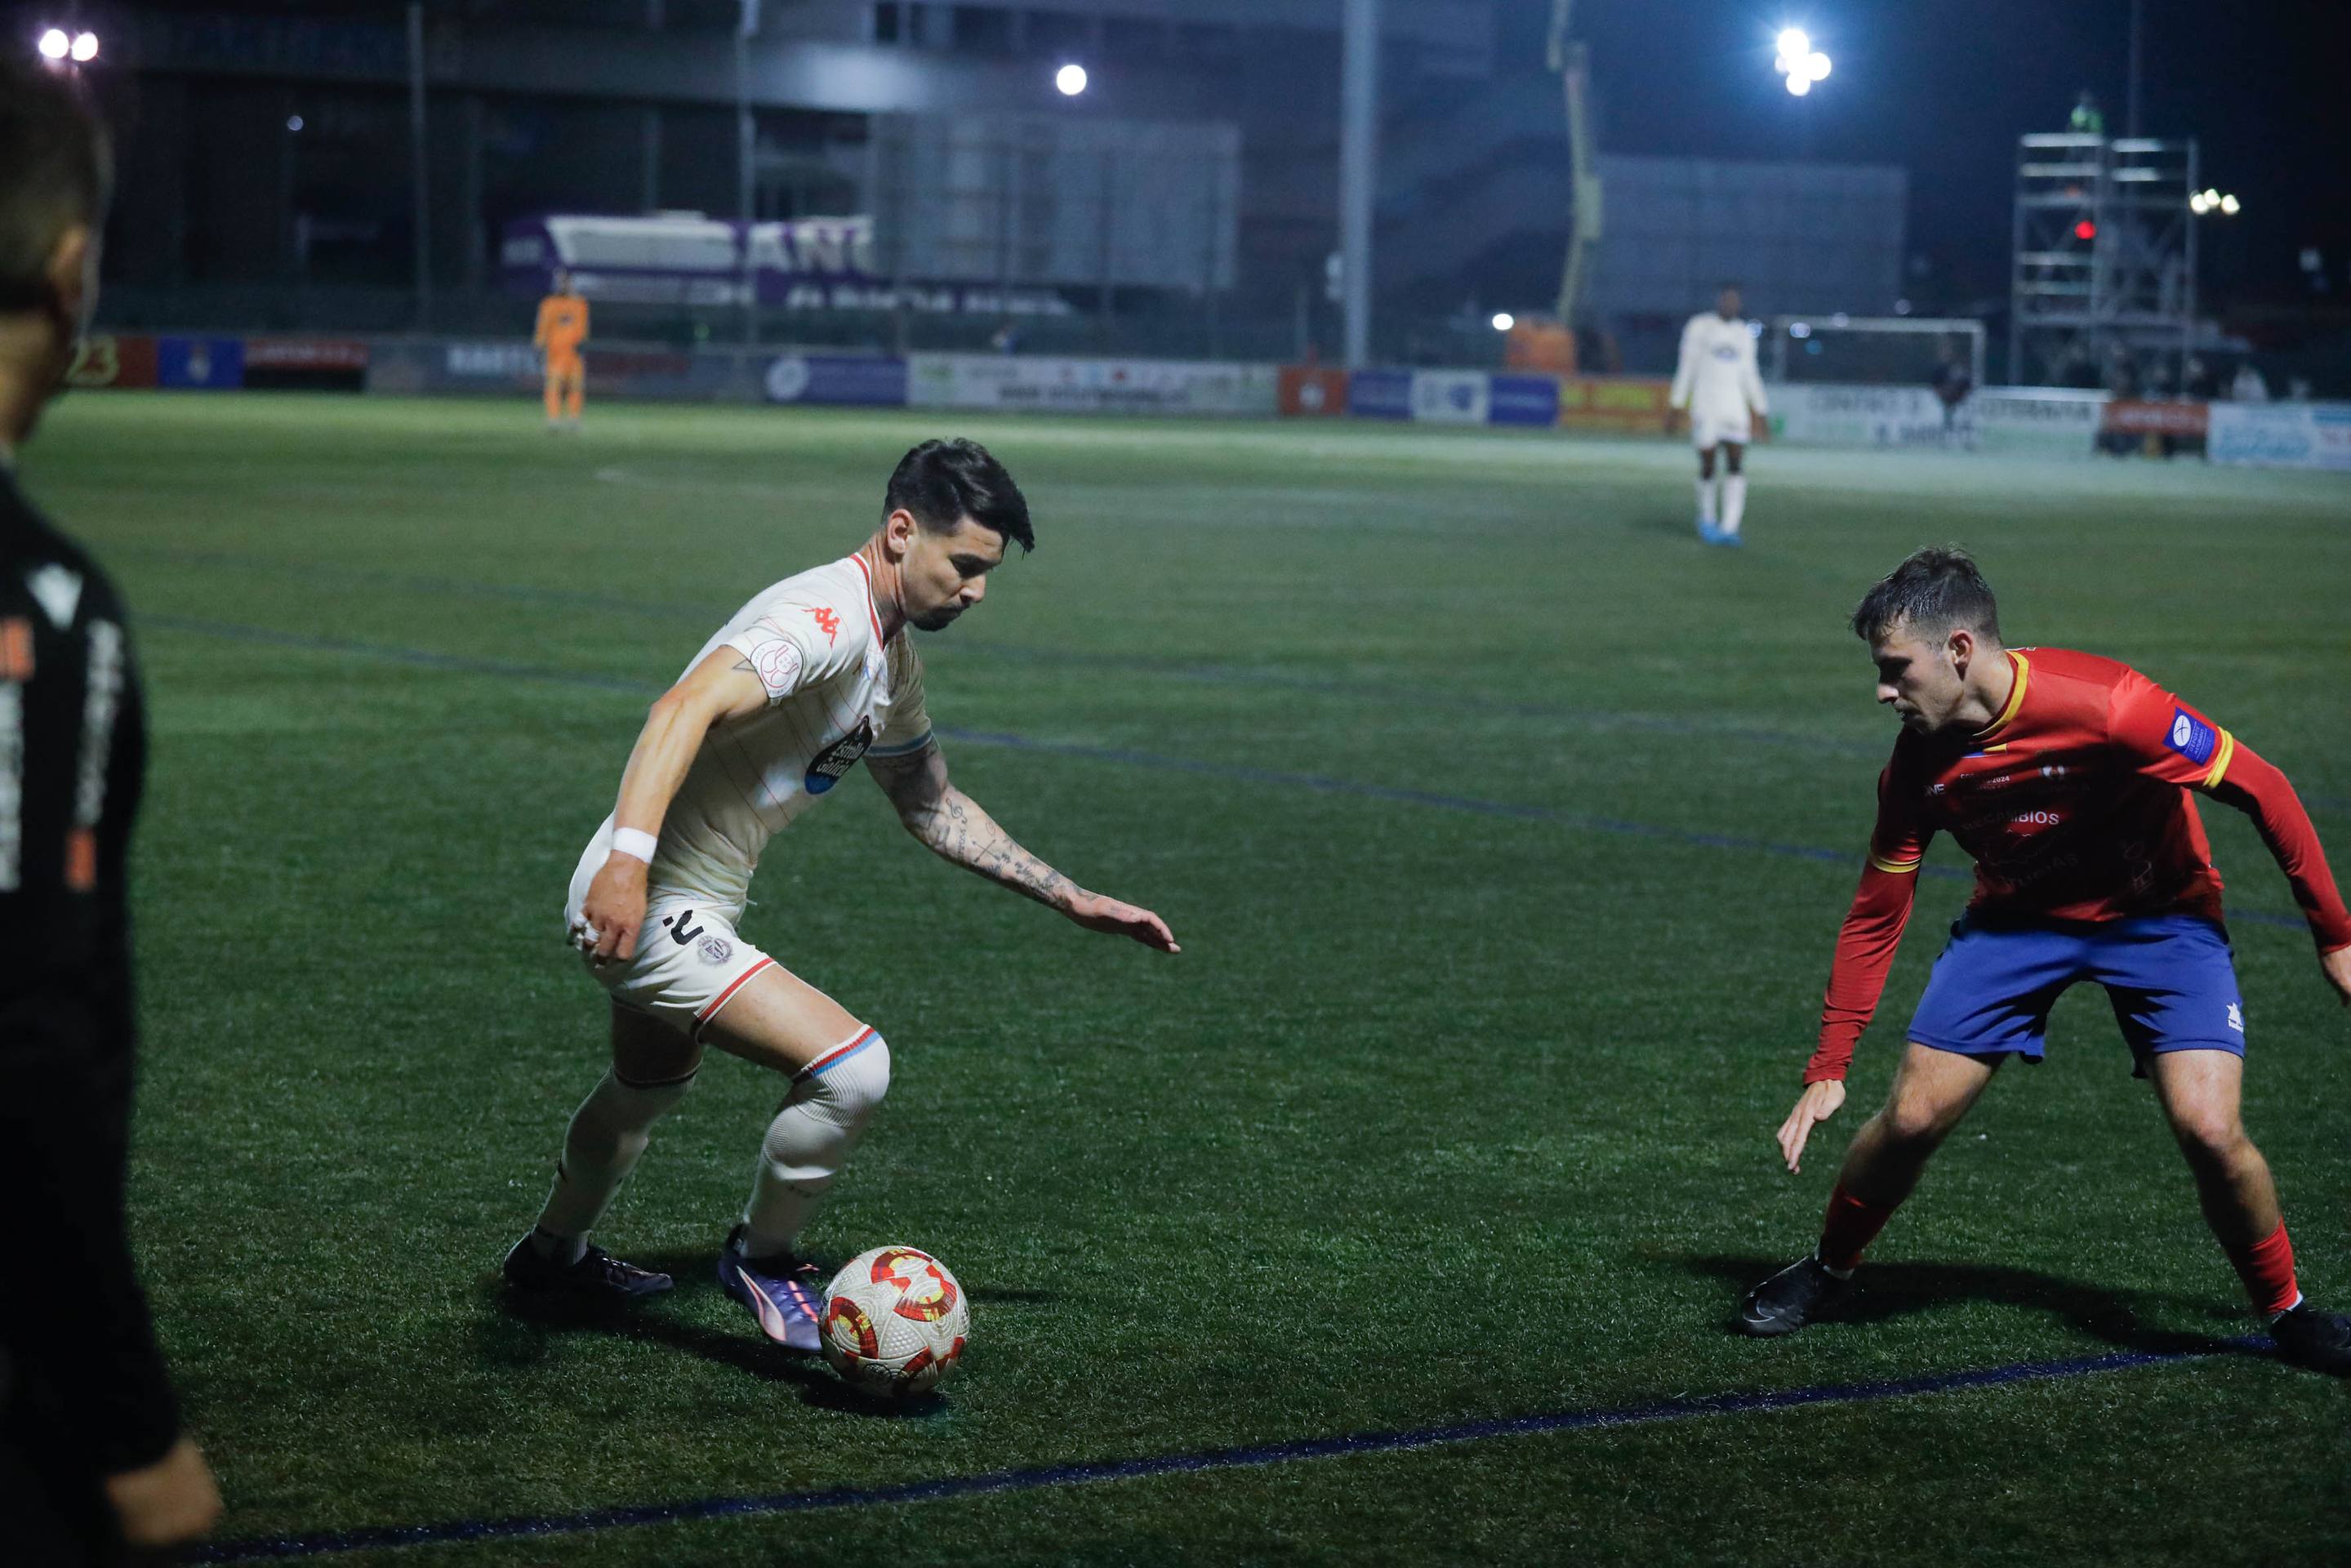
POLYGON ((122 599, 0 468, 0 1408, 96 1474, 179 1432, 122 1229, 143 766, 122 599))

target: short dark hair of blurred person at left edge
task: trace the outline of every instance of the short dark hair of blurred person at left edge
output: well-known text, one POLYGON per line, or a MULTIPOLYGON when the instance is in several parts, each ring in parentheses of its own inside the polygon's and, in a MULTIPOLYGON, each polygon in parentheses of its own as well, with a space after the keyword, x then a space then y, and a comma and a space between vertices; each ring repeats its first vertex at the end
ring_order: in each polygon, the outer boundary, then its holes
POLYGON ((106 221, 113 146, 78 78, 0 61, 0 310, 49 301, 49 256, 106 221))

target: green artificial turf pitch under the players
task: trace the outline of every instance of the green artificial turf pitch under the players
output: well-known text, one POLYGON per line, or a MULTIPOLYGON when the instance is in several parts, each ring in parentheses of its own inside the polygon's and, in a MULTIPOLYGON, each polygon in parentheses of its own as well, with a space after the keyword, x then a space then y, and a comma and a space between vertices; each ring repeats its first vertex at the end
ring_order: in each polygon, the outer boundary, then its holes
MULTIPOLYGON (((134 1232, 235 1540, 896 1486, 1911 1378, 2252 1328, 2104 999, 2057 1009, 1874 1253, 1747 1342, 1813 1239, 1965 884, 1928 877, 1855 1103, 1799 1088, 1890 722, 1843 618, 1918 543, 2015 642, 2144 668, 2351 846, 2351 487, 2198 463, 1688 454, 1382 425, 89 395, 33 496, 120 578, 153 769, 134 1232), (710 1279, 778 1086, 715 1060, 602 1241, 621 1326, 508 1312, 600 1072, 564 884, 644 703, 853 548, 898 454, 994 447, 1039 548, 924 642, 957 780, 1159 910, 1161 959, 936 863, 844 788, 743 933, 891 1041, 811 1241, 976 1302, 877 1415, 710 1279), (1018 743, 1016 743, 1018 741, 1018 743), (1834 851, 1834 860, 1777 853, 1834 851)), ((2250 825, 2248 1119, 2351 1305, 2351 1025, 2250 825)), ((1940 842, 1930 867, 1961 867, 1940 842)), ((2351 870, 2351 867, 2346 867, 2351 870)), ((2224 1563, 2351 1556, 2351 1389, 2215 1354, 1904 1401, 327 1561, 2224 1563)))

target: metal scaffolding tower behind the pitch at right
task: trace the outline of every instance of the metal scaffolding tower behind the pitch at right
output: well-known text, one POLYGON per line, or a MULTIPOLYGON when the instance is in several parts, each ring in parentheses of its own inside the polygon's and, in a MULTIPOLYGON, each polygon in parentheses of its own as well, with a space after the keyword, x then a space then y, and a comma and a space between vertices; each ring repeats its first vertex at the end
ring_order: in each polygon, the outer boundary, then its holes
POLYGON ((2104 378, 2114 350, 2177 355, 2196 334, 2196 141, 2017 139, 2008 378, 2104 378))

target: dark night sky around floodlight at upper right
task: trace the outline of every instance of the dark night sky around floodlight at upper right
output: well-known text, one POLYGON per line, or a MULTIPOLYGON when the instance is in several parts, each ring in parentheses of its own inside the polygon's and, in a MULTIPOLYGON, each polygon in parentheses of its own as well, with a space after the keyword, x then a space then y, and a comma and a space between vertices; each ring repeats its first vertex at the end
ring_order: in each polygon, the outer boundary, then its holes
MULTIPOLYGON (((1512 40, 1540 40, 1552 12, 1502 9, 1512 40)), ((2304 244, 2323 249, 2337 299, 2351 282, 2346 12, 2144 0, 2144 134, 2198 136, 2205 183, 2245 202, 2238 233, 2205 228, 2222 294, 2302 294, 2304 244)), ((2064 129, 2081 87, 2123 132, 2130 0, 1580 0, 1575 33, 1592 45, 1603 150, 1902 165, 1911 252, 1968 294, 2008 287, 2015 139, 2064 129), (1789 24, 1836 61, 1808 99, 1770 68, 1789 24)))

